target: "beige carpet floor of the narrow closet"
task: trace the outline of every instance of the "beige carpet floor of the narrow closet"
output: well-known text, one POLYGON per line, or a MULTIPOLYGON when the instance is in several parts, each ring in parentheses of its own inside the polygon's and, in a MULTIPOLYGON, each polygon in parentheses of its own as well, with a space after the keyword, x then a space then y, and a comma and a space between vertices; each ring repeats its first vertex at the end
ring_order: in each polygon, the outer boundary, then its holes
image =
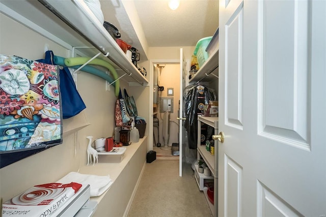
POLYGON ((191 165, 179 177, 179 160, 156 159, 146 164, 128 217, 212 216, 199 191, 191 165))

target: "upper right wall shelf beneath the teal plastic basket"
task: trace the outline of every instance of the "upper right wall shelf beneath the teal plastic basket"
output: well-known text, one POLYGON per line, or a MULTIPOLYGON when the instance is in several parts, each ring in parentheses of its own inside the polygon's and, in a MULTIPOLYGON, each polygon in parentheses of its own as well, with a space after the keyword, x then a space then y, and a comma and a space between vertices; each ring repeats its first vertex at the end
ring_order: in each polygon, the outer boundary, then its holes
POLYGON ((196 83, 199 81, 209 82, 217 79, 219 76, 219 49, 216 49, 197 73, 189 80, 189 83, 196 83), (216 68, 217 67, 217 68, 216 68), (210 74, 212 73, 212 74, 210 74), (206 75, 208 74, 208 75, 206 75), (214 76, 215 75, 215 76, 214 76))

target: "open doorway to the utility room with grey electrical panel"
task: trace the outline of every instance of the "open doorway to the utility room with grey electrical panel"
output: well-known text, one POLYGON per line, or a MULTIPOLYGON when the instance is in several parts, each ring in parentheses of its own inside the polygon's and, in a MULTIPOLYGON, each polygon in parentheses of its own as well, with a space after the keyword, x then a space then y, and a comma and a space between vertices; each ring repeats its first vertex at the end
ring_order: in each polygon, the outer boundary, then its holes
POLYGON ((153 67, 153 150, 158 159, 178 159, 179 63, 154 63, 153 67))

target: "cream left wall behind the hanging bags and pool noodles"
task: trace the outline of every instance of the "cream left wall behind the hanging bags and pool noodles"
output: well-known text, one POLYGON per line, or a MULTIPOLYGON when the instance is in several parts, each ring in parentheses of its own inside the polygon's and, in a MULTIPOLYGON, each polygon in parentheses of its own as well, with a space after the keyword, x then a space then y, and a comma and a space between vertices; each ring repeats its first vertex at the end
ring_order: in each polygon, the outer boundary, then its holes
MULTIPOLYGON (((2 55, 16 55, 30 60, 42 59, 45 45, 57 56, 66 57, 67 54, 67 50, 60 45, 3 14, 0 14, 0 34, 2 55)), ((128 87, 123 82, 121 87, 126 87, 128 93, 135 97, 139 115, 148 119, 148 87, 128 87)), ((114 88, 111 87, 110 92, 106 91, 105 80, 85 72, 77 74, 77 88, 87 106, 84 112, 91 125, 76 134, 65 135, 61 145, 0 169, 0 195, 4 201, 33 185, 55 182, 71 171, 77 172, 87 165, 86 137, 92 135, 93 139, 97 139, 113 135, 117 99, 114 88)), ((66 121, 63 122, 64 128, 65 123, 66 121)))

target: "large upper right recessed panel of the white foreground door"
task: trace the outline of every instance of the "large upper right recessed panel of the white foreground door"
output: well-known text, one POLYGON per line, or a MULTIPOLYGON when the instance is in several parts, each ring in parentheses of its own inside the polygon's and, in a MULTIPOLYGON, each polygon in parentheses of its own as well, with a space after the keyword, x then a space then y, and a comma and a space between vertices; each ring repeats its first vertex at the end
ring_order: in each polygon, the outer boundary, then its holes
POLYGON ((258 24, 258 52, 264 53, 258 57, 258 93, 261 93, 258 96, 258 134, 309 150, 308 112, 311 110, 308 103, 310 91, 307 69, 311 57, 311 50, 308 50, 311 12, 308 3, 259 2, 258 14, 258 20, 261 21, 258 24), (281 10, 275 14, 274 11, 280 4, 281 10), (280 17, 287 22, 280 25, 280 17), (287 34, 279 34, 285 31, 287 34), (277 65, 282 67, 276 67, 277 65), (280 104, 284 106, 279 106, 280 104))

